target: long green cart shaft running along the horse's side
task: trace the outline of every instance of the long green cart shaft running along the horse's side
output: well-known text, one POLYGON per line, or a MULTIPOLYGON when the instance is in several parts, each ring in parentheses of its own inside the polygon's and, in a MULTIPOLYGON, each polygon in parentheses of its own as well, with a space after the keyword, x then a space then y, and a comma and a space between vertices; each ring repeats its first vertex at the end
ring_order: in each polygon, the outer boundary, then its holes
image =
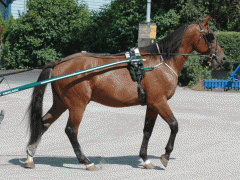
MULTIPOLYGON (((143 61, 143 59, 133 59, 132 61, 133 62, 138 62, 138 61, 143 61)), ((84 74, 84 73, 88 73, 88 72, 92 72, 92 71, 95 71, 95 70, 107 68, 107 67, 118 65, 118 64, 128 63, 128 62, 130 62, 130 60, 112 62, 112 63, 104 64, 104 65, 101 65, 101 66, 96 66, 96 67, 92 67, 92 68, 89 68, 89 69, 84 69, 84 70, 81 70, 81 71, 77 71, 77 72, 74 72, 74 73, 65 74, 65 75, 62 75, 62 76, 57 76, 57 77, 54 77, 54 78, 46 79, 46 80, 43 80, 43 81, 26 84, 26 85, 19 86, 19 87, 16 87, 16 88, 12 88, 12 89, 9 89, 9 90, 1 91, 0 96, 5 96, 5 95, 8 95, 8 94, 16 93, 16 92, 19 92, 19 91, 22 91, 22 90, 25 90, 25 89, 35 87, 35 86, 41 86, 43 84, 51 83, 51 82, 58 81, 58 80, 61 80, 61 79, 77 76, 77 75, 80 75, 80 74, 84 74)))

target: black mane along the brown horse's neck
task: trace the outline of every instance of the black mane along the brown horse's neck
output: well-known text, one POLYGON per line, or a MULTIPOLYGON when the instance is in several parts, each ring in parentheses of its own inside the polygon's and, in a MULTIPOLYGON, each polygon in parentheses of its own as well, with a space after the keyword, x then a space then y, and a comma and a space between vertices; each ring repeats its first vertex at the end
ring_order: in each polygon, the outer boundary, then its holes
MULTIPOLYGON (((176 56, 176 53, 178 53, 178 49, 182 44, 184 32, 187 27, 188 25, 182 26, 167 37, 158 41, 159 50, 162 53, 164 60, 176 56)), ((140 47, 139 50, 144 51, 145 53, 151 53, 155 56, 159 53, 156 44, 140 47)))

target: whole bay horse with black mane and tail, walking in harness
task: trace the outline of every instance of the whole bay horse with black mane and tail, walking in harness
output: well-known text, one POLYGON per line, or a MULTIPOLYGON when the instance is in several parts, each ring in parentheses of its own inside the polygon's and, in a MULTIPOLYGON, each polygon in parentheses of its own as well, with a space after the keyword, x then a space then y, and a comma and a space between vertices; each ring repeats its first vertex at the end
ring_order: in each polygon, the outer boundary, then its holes
MULTIPOLYGON (((146 59, 144 67, 155 67, 153 70, 146 71, 142 79, 142 87, 146 92, 147 110, 139 156, 146 169, 155 168, 148 160, 147 147, 158 115, 167 122, 171 129, 165 154, 160 157, 164 167, 168 164, 178 132, 178 122, 167 101, 175 93, 178 74, 188 56, 195 50, 207 56, 213 68, 221 66, 226 61, 226 56, 213 30, 209 27, 208 20, 209 17, 206 17, 199 23, 185 25, 157 44, 139 48, 141 57, 146 59)), ((52 77, 57 77, 125 59, 124 54, 77 53, 46 65, 38 81, 48 79, 51 72, 52 77)), ((137 86, 130 76, 127 64, 52 82, 53 105, 44 116, 42 116, 42 106, 46 85, 35 87, 29 105, 30 139, 27 145, 25 166, 35 167, 33 156, 42 135, 68 109, 69 119, 65 133, 72 144, 76 157, 79 163, 86 165, 87 170, 97 170, 94 163, 84 155, 77 138, 85 108, 90 101, 111 107, 139 105, 137 86)))

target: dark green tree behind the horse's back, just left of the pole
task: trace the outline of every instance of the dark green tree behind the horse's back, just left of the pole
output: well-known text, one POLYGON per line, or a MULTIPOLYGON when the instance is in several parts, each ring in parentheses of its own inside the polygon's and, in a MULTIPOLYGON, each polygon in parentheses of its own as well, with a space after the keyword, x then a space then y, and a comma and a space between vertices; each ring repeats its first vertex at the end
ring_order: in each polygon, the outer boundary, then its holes
POLYGON ((92 16, 84 37, 85 50, 117 53, 136 46, 139 22, 145 20, 146 3, 115 0, 92 16))

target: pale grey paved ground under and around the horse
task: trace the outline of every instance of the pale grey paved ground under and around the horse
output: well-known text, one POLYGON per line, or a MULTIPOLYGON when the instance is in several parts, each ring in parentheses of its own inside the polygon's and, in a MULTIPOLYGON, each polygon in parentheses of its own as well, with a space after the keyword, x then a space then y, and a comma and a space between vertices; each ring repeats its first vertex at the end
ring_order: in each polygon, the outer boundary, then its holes
MULTIPOLYGON (((5 71, 4 71, 5 72, 5 71)), ((0 91, 35 82, 40 71, 6 77, 0 91)), ((0 71, 0 74, 3 71, 0 71)), ((32 89, 0 97, 5 117, 0 129, 0 179, 240 179, 240 94, 177 88, 169 100, 179 132, 168 167, 159 160, 170 129, 158 117, 148 155, 155 170, 143 169, 138 154, 146 107, 111 108, 91 102, 79 128, 85 155, 99 171, 78 163, 64 129, 65 112, 44 134, 35 169, 25 169, 26 110, 32 89)), ((52 105, 51 88, 44 96, 44 112, 52 105)))

